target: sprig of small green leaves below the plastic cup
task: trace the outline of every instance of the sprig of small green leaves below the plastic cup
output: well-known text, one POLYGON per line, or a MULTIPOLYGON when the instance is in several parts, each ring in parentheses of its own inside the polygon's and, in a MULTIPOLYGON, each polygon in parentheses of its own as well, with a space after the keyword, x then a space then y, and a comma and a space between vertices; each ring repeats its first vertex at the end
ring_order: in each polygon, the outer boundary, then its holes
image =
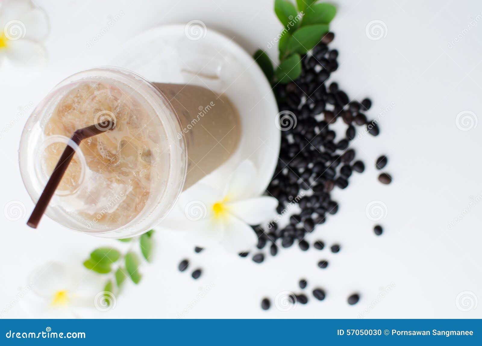
POLYGON ((153 233, 154 230, 150 230, 139 237, 118 239, 121 242, 131 243, 127 252, 122 253, 113 247, 99 247, 92 251, 89 258, 83 262, 85 268, 99 274, 110 276, 104 286, 105 304, 107 304, 107 306, 110 304, 110 300, 108 299, 109 294, 118 294, 127 278, 130 278, 135 284, 141 281, 142 275, 139 272, 139 267, 142 262, 135 248, 137 244, 139 244, 138 249, 142 257, 147 262, 150 262, 154 247, 152 239, 153 233))

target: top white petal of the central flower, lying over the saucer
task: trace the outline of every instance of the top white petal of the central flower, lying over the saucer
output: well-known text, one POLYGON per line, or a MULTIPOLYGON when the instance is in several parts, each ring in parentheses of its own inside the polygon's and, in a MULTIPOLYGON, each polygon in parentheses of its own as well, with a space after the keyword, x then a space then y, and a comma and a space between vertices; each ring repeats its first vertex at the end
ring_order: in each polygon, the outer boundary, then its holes
POLYGON ((253 162, 244 160, 229 177, 225 196, 231 201, 253 197, 255 194, 254 186, 256 186, 254 180, 256 178, 257 170, 253 162))

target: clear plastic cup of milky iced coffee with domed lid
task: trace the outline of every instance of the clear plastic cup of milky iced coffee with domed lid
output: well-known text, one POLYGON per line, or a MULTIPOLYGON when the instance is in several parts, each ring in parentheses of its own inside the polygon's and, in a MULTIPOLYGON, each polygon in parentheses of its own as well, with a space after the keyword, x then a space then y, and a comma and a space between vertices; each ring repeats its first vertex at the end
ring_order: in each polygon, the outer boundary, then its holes
POLYGON ((224 95, 197 86, 152 84, 120 69, 78 75, 62 82, 34 111, 20 153, 22 176, 36 202, 74 131, 111 123, 111 130, 80 143, 47 209, 69 228, 122 233, 117 236, 147 231, 182 190, 237 149, 240 118, 224 95), (28 162, 29 155, 35 164, 28 162))

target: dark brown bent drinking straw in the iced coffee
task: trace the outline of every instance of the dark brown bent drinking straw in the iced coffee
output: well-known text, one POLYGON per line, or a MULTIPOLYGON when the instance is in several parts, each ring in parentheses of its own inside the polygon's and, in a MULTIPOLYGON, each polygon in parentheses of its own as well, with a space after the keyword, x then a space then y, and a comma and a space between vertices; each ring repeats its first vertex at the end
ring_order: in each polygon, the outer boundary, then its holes
MULTIPOLYGON (((115 124, 112 124, 108 121, 100 122, 98 124, 76 130, 72 137, 70 137, 70 139, 74 141, 77 145, 80 145, 80 142, 82 140, 108 131, 114 127, 115 124)), ((60 181, 62 180, 62 177, 64 176, 68 165, 70 164, 70 161, 72 161, 74 153, 75 149, 67 144, 67 147, 62 153, 62 156, 60 156, 60 159, 57 162, 57 165, 55 166, 54 171, 52 172, 52 175, 47 182, 47 185, 45 185, 45 188, 40 195, 39 201, 37 202, 35 208, 32 211, 32 215, 30 215, 30 218, 27 221, 27 225, 31 228, 37 228, 37 226, 39 225, 40 218, 42 218, 42 215, 43 213, 45 213, 45 209, 47 209, 47 206, 49 205, 52 196, 54 196, 55 190, 59 186, 60 181)))

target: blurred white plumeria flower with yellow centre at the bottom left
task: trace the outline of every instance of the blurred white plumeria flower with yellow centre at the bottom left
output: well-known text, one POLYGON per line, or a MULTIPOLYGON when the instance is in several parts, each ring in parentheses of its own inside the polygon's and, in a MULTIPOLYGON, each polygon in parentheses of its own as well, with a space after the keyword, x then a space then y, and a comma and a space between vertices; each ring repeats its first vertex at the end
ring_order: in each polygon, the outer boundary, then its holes
POLYGON ((31 308, 36 314, 47 316, 79 317, 81 308, 94 308, 94 297, 102 287, 87 270, 74 272, 56 262, 36 269, 29 282, 36 295, 31 308))

